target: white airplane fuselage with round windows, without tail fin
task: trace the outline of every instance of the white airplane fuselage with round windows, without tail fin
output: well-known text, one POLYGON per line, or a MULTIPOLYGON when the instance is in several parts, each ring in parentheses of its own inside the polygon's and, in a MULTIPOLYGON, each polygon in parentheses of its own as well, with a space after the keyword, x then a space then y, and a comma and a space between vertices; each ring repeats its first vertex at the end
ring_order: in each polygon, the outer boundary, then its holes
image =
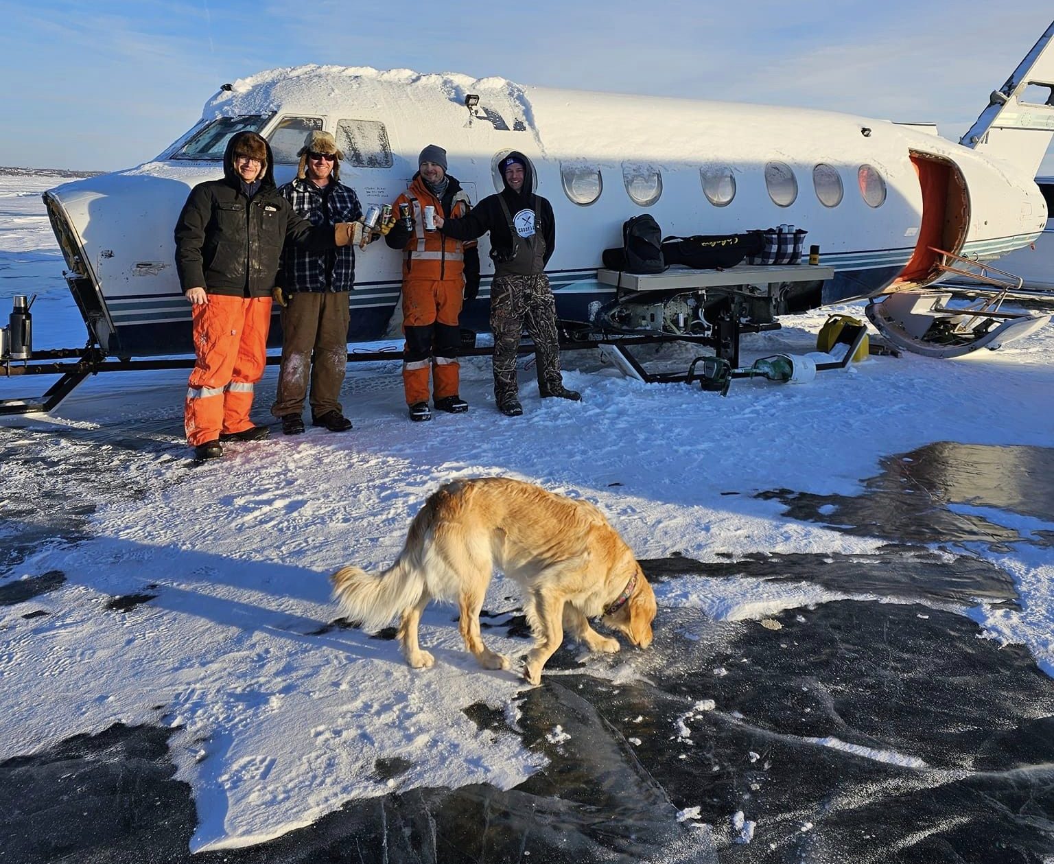
MULTIPOLYGON (((63 249, 83 277, 80 290, 91 283, 101 298, 103 314, 90 326, 109 353, 176 353, 189 345, 190 308, 176 279, 173 227, 189 190, 221 176, 222 150, 186 158, 186 149, 208 136, 210 123, 235 117, 258 118, 251 126, 275 150, 279 184, 294 174, 306 129, 333 132, 345 151, 341 180, 364 210, 392 202, 407 188, 427 144, 446 149, 449 173, 473 203, 500 188, 494 165, 501 156, 525 153, 536 170, 536 192, 555 214, 547 272, 560 315, 579 320, 613 292, 596 278, 603 250, 621 246, 622 223, 644 212, 667 235, 781 223, 807 230, 806 246, 819 246, 822 262, 836 271, 823 288, 824 303, 933 281, 940 272, 925 251, 931 244, 992 259, 1028 246, 1047 222, 1043 197, 1027 173, 884 120, 457 75, 301 66, 221 90, 202 120, 155 160, 45 196, 53 221, 66 223, 63 249), (479 96, 473 111, 465 105, 468 94, 479 96)), ((484 238, 477 303, 488 295, 488 249, 484 238)), ((399 279, 398 252, 374 243, 357 253, 350 338, 384 333, 399 279)), ((485 310, 483 302, 476 318, 485 310)))

